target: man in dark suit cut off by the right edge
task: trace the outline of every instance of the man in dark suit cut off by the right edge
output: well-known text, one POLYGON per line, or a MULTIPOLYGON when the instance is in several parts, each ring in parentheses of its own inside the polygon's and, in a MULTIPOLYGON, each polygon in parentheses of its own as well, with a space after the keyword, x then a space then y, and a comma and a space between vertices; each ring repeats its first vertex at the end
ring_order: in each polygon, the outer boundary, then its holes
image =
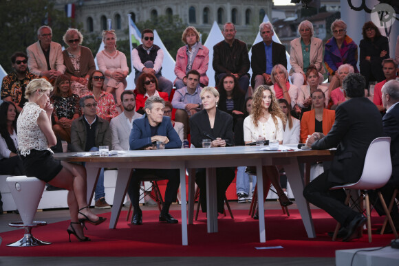
MULTIPOLYGON (((382 118, 382 126, 384 133, 391 137, 391 162, 392 162, 392 176, 388 183, 380 188, 382 197, 384 197, 385 203, 389 204, 391 201, 393 190, 399 187, 399 81, 389 80, 382 86, 382 105, 387 109, 382 118)), ((376 202, 374 208, 376 208, 378 214, 385 215, 385 211, 377 200, 377 194, 369 192, 370 201, 376 202)), ((395 224, 396 230, 399 230, 399 212, 398 206, 393 204, 391 210, 391 218, 395 224)), ((391 233, 392 229, 388 223, 385 233, 391 233)))

